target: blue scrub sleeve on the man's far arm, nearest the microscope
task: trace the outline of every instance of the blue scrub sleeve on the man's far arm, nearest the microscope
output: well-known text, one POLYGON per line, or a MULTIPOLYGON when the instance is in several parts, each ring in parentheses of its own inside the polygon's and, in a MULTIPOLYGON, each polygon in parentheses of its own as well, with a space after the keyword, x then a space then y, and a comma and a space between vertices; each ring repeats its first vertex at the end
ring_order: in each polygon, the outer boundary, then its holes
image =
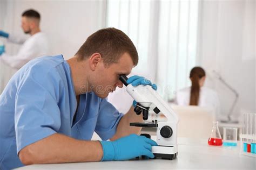
POLYGON ((99 116, 95 132, 102 140, 110 139, 116 134, 117 125, 124 114, 120 113, 114 106, 103 99, 99 105, 99 116))

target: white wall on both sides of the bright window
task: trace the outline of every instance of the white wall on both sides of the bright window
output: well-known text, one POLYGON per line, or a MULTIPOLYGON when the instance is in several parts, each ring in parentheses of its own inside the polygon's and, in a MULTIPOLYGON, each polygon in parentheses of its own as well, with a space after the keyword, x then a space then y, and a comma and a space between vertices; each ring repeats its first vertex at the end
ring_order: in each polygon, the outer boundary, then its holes
MULTIPOLYGON (((106 1, 0 1, 0 29, 23 34, 21 13, 29 8, 42 16, 42 30, 49 35, 50 54, 70 58, 87 36, 105 26, 106 1)), ((217 70, 239 93, 235 114, 255 110, 255 1, 201 1, 199 13, 199 63, 206 68, 206 86, 215 88, 223 114, 229 111, 234 95, 212 75, 217 70)), ((6 45, 16 53, 18 46, 6 45)), ((2 91, 14 71, 1 65, 2 91)))

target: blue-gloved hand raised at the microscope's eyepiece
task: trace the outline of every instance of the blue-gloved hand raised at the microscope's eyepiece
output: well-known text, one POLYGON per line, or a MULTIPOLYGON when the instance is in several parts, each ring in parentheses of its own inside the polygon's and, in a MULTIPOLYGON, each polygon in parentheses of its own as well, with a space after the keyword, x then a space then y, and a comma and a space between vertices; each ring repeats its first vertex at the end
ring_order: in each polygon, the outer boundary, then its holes
MULTIPOLYGON (((142 85, 150 85, 152 86, 152 88, 154 90, 157 90, 157 85, 156 84, 152 84, 150 80, 145 79, 144 77, 138 76, 138 75, 134 75, 129 77, 129 79, 127 79, 127 83, 130 84, 132 83, 132 86, 139 86, 140 84, 142 85)), ((137 102, 133 101, 132 105, 135 108, 136 107, 137 102)))

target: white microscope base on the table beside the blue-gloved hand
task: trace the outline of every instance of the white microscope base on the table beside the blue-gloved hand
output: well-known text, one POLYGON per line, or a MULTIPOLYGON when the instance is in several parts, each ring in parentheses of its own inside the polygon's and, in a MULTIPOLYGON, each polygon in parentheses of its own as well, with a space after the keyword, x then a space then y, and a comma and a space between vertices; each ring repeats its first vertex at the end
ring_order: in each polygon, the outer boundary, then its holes
POLYGON ((177 146, 152 146, 152 153, 155 158, 173 160, 178 155, 177 146))

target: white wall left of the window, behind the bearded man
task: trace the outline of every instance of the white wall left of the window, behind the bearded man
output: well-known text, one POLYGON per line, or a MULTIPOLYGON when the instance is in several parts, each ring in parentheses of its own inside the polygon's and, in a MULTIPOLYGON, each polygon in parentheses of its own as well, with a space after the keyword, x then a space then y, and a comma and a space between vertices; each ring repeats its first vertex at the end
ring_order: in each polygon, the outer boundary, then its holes
MULTIPOLYGON (((73 56, 90 34, 105 27, 106 1, 5 1, 1 0, 0 30, 24 34, 21 15, 27 9, 41 14, 41 29, 48 34, 51 51, 49 55, 63 54, 65 59, 73 56)), ((3 40, 3 39, 1 39, 3 40)), ((19 46, 6 44, 6 52, 17 53, 19 46)), ((3 87, 15 70, 0 63, 3 87), (4 68, 4 69, 3 69, 4 68), (3 71, 4 70, 4 71, 3 71)))

